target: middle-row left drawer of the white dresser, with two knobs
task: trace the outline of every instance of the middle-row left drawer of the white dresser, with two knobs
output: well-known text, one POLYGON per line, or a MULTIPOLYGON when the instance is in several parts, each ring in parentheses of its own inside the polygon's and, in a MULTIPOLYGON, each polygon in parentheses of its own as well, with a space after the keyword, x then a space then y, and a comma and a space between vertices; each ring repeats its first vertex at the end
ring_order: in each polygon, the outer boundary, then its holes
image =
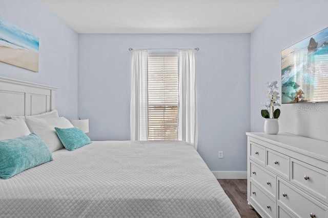
POLYGON ((251 162, 251 178, 276 198, 276 176, 263 167, 251 162))

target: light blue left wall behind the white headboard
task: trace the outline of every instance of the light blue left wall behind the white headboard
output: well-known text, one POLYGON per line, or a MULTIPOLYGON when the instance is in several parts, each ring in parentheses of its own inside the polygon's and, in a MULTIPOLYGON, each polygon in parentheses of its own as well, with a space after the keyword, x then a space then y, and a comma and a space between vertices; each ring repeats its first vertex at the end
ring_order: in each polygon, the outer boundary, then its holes
POLYGON ((58 87, 59 115, 77 118, 77 33, 37 0, 0 0, 0 16, 40 43, 39 72, 0 62, 0 76, 58 87))

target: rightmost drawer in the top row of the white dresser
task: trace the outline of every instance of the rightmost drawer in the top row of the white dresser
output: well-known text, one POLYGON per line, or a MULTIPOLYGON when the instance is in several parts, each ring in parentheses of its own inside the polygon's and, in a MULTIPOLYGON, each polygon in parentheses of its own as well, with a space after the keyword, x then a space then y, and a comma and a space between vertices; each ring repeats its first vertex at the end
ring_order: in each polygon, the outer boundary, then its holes
POLYGON ((292 183, 328 202, 328 172, 293 158, 291 158, 291 172, 292 183))

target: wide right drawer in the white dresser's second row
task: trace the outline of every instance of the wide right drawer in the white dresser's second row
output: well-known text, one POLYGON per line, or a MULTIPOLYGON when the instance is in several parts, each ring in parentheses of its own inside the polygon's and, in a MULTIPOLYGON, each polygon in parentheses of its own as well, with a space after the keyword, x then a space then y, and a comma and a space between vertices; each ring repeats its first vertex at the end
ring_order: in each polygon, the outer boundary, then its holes
POLYGON ((298 217, 311 217, 311 214, 316 218, 328 217, 326 206, 281 179, 278 179, 277 201, 298 217))

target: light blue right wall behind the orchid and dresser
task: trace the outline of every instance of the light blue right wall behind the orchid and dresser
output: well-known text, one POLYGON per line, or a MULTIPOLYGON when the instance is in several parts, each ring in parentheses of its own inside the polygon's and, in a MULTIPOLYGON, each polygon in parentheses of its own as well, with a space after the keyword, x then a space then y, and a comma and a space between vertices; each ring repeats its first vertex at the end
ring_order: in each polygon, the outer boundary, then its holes
MULTIPOLYGON (((328 1, 285 0, 251 34, 251 130, 263 131, 264 84, 277 80, 281 87, 281 50, 328 27, 328 1)), ((281 92, 281 91, 280 91, 281 92)), ((282 105, 281 132, 328 140, 328 112, 298 112, 297 107, 327 103, 282 105)))

